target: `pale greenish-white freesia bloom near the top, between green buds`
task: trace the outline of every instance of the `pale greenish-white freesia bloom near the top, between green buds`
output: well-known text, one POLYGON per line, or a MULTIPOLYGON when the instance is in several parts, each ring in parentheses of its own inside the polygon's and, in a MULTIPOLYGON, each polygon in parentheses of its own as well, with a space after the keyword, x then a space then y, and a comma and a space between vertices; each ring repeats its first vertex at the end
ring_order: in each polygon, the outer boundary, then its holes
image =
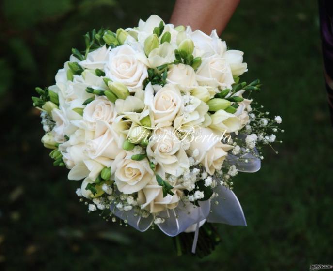
POLYGON ((163 43, 158 48, 153 49, 148 56, 148 66, 150 68, 156 68, 165 63, 173 62, 174 48, 170 43, 163 43))

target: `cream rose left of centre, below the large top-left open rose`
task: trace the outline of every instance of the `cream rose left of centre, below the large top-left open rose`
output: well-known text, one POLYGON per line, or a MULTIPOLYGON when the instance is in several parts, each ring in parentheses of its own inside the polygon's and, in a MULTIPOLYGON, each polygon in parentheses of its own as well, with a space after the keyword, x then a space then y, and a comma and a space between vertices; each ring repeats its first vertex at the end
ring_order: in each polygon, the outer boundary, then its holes
POLYGON ((89 103, 83 110, 83 120, 86 121, 89 130, 96 129, 96 121, 104 120, 112 123, 117 114, 114 105, 105 97, 98 97, 89 103))

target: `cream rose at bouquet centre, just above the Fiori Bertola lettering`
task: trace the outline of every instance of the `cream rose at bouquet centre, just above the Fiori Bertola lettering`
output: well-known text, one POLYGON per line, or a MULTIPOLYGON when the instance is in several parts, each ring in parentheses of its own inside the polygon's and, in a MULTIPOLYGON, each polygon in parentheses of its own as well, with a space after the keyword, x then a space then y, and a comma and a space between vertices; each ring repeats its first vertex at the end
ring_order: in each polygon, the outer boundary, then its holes
POLYGON ((145 89, 144 104, 148 105, 158 127, 170 126, 182 106, 182 97, 178 88, 167 84, 160 88, 154 96, 149 83, 145 89))

